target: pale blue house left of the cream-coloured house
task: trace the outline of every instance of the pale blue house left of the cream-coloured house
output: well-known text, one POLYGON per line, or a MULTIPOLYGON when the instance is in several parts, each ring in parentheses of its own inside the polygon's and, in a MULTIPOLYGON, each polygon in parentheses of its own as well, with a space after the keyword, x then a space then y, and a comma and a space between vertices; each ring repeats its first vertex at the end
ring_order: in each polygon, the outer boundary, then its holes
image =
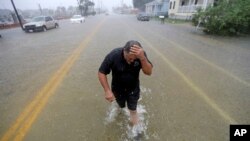
POLYGON ((145 12, 149 16, 168 15, 169 1, 170 0, 154 0, 149 2, 145 4, 145 12))

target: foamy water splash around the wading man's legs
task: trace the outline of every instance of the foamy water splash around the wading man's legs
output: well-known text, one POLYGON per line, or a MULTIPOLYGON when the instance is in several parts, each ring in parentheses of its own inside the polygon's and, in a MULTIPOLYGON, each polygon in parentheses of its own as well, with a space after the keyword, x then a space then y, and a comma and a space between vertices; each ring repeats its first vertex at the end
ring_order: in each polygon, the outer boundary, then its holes
MULTIPOLYGON (((141 86, 141 98, 142 96, 150 96, 151 89, 141 86)), ((141 102, 140 102, 141 103, 141 102)), ((107 110, 105 117, 105 125, 108 125, 111 129, 119 129, 120 141, 141 141, 149 140, 147 135, 149 115, 143 104, 137 105, 137 113, 139 123, 135 126, 131 126, 130 113, 127 108, 121 109, 116 102, 112 102, 107 110), (112 123, 112 124, 111 124, 112 123)))

